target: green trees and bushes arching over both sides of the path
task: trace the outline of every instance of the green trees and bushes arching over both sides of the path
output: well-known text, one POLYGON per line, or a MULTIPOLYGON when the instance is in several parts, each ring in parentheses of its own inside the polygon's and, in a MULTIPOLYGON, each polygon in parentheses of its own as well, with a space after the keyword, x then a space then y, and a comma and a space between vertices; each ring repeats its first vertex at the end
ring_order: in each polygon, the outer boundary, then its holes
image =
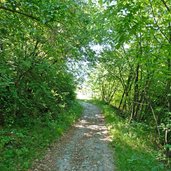
MULTIPOLYGON (((95 96, 117 106, 130 123, 152 127, 168 152, 170 11, 164 0, 1 0, 0 126, 59 121, 75 99, 68 63, 88 59, 95 96), (101 53, 90 50, 95 44, 103 47, 101 53)), ((13 141, 4 138, 1 146, 13 141)))

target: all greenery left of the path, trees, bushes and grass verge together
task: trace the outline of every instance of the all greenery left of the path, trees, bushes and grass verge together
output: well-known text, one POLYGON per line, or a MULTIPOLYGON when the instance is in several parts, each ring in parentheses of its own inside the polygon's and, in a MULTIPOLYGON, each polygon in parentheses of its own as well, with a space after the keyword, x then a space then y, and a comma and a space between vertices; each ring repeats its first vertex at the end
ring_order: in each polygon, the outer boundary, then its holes
POLYGON ((27 170, 81 114, 68 63, 89 42, 87 17, 74 1, 0 1, 1 171, 27 170))

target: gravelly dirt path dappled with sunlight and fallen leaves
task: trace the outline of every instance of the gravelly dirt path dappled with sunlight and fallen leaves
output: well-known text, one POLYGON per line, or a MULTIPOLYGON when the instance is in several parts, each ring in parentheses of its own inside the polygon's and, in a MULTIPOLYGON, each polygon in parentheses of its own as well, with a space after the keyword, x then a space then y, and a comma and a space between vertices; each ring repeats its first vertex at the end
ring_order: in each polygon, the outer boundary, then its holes
POLYGON ((48 150, 32 171, 114 171, 113 154, 100 110, 82 102, 84 114, 74 127, 48 150))

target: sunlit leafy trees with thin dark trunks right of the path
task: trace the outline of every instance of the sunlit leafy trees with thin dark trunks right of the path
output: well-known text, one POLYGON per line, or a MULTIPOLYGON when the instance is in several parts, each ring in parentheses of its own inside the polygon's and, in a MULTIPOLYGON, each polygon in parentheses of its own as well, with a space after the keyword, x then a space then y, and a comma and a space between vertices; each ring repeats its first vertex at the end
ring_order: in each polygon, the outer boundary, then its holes
POLYGON ((103 52, 89 81, 94 96, 122 110, 129 122, 152 126, 164 149, 171 143, 171 3, 123 0, 102 6, 96 42, 103 52))

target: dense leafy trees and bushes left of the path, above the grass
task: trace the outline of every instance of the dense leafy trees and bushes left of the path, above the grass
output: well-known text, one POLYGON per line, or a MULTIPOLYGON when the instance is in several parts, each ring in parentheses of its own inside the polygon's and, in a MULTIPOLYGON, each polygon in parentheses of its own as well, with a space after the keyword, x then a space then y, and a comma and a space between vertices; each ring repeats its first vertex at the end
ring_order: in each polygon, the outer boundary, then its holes
POLYGON ((82 8, 73 1, 0 2, 0 125, 55 119, 75 99, 67 61, 81 57, 89 40, 82 8))

